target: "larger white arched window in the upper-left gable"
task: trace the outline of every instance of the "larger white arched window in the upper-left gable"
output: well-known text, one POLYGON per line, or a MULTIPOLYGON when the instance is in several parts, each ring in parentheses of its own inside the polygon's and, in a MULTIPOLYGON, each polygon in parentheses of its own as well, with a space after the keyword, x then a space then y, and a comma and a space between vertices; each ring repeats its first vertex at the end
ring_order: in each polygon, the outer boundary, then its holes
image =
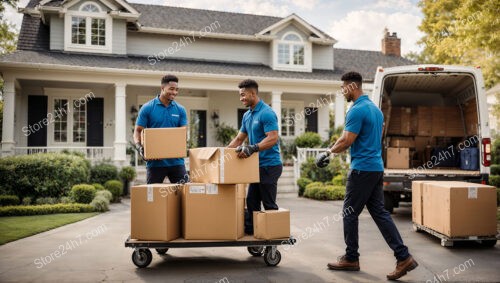
POLYGON ((111 52, 112 19, 97 4, 85 2, 66 13, 65 50, 111 52))

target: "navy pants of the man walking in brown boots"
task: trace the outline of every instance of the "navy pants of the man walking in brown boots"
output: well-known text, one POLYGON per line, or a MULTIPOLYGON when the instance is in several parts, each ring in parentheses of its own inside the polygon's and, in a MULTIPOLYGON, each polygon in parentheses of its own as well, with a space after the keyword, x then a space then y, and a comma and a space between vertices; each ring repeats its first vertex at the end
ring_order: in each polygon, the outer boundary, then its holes
POLYGON ((349 261, 359 259, 358 216, 365 205, 396 259, 401 261, 410 256, 390 213, 384 208, 383 176, 384 172, 349 171, 343 208, 344 241, 349 261))

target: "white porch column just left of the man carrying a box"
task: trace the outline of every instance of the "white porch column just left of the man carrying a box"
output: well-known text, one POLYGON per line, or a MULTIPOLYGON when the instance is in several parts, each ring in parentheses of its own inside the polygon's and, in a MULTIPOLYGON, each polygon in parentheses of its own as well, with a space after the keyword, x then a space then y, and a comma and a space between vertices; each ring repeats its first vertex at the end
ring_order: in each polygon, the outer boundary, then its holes
POLYGON ((114 163, 117 166, 126 165, 127 160, 127 106, 126 84, 115 84, 115 142, 114 163))

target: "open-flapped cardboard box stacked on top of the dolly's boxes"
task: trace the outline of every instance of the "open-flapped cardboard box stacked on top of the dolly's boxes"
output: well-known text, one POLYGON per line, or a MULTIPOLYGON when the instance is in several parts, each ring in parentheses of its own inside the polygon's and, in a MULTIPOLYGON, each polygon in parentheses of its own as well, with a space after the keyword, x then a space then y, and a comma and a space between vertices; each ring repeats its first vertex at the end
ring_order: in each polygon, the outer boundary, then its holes
POLYGON ((193 148, 189 150, 189 174, 191 181, 196 183, 258 183, 259 154, 238 158, 234 148, 193 148))

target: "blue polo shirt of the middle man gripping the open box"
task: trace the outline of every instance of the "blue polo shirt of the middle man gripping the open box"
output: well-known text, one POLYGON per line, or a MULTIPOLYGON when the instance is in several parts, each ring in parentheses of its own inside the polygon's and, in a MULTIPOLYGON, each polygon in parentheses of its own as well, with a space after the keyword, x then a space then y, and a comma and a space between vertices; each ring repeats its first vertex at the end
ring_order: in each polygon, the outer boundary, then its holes
MULTIPOLYGON (((276 113, 260 100, 253 110, 249 109, 243 115, 240 131, 248 135, 250 144, 257 144, 266 138, 267 132, 278 131, 276 113)), ((269 149, 259 151, 260 167, 276 165, 281 165, 279 142, 269 149)))

